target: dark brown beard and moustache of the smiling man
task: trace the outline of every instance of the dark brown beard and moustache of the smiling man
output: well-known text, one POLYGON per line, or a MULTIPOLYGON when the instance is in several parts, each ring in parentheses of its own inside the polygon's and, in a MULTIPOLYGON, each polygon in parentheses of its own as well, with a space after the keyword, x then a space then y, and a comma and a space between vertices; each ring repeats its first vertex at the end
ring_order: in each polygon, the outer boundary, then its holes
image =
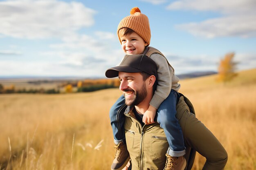
MULTIPOLYGON (((126 90, 124 90, 126 91, 126 90)), ((130 90, 127 90, 130 91, 130 90)), ((140 104, 147 96, 148 92, 146 90, 146 84, 144 82, 143 86, 141 87, 141 89, 137 90, 133 99, 126 99, 125 98, 125 104, 127 106, 137 106, 138 104, 140 104)), ((125 97, 125 94, 124 94, 125 97)))

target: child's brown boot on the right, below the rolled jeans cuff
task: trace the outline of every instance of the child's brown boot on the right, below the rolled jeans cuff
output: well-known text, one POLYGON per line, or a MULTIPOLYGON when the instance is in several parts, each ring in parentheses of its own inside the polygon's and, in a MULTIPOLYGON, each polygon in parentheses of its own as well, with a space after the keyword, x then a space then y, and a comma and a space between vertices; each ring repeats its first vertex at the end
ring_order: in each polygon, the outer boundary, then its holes
POLYGON ((171 157, 166 153, 166 163, 164 170, 184 170, 186 159, 184 157, 171 157))

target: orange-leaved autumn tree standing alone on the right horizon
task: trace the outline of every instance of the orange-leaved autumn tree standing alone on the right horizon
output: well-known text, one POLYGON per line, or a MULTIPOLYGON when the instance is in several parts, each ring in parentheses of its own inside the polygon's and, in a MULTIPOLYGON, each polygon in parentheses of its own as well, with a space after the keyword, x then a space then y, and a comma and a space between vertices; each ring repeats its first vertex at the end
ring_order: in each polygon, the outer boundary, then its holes
POLYGON ((218 67, 218 81, 228 82, 237 76, 235 73, 237 62, 234 62, 235 53, 227 53, 223 59, 220 60, 218 67))

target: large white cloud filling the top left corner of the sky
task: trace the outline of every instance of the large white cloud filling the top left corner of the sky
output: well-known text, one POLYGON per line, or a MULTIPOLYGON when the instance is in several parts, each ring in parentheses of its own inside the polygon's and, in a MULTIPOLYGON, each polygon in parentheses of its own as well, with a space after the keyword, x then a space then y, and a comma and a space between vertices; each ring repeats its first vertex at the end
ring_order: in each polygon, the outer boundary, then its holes
POLYGON ((31 39, 61 37, 92 26, 95 13, 80 2, 3 1, 0 2, 0 34, 31 39))

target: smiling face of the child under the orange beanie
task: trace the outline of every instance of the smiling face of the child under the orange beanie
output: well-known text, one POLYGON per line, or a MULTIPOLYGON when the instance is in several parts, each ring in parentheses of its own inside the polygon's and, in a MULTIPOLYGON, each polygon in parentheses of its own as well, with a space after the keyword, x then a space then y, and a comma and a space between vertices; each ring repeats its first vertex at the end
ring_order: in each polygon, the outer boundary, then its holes
POLYGON ((129 35, 120 36, 122 42, 122 49, 127 55, 142 54, 145 46, 148 44, 139 36, 139 34, 133 32, 129 35))

